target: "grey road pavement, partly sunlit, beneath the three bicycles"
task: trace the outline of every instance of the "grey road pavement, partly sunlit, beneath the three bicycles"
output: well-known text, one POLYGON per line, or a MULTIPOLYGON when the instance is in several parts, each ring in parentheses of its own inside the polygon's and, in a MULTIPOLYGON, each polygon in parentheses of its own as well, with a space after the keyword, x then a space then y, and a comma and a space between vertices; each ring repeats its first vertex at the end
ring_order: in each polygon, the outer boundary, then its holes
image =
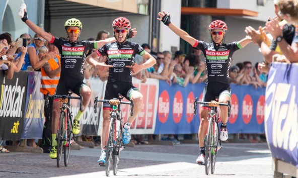
MULTIPOLYGON (((68 166, 61 160, 57 167, 47 153, 0 153, 0 177, 105 177, 105 167, 96 164, 99 154, 99 147, 71 150, 68 166)), ((126 147, 117 177, 273 177, 266 143, 223 143, 213 175, 205 175, 197 156, 197 144, 126 147)))

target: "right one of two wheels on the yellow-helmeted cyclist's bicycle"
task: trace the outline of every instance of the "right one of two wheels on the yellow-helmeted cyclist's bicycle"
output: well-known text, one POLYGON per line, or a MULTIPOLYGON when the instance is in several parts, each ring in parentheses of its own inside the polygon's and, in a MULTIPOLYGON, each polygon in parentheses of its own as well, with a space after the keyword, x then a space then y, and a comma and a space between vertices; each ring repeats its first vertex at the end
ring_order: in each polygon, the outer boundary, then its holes
POLYGON ((66 144, 64 146, 64 165, 67 166, 69 162, 69 157, 70 157, 70 149, 71 149, 71 142, 74 139, 73 133, 72 133, 72 124, 71 124, 71 119, 70 119, 70 113, 68 111, 67 113, 67 135, 66 135, 66 144))

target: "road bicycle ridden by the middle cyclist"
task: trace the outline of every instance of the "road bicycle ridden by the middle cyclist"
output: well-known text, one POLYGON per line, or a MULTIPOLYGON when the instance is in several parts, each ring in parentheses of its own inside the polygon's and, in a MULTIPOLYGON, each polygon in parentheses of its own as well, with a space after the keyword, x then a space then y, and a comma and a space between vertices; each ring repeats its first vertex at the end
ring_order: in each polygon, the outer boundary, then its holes
POLYGON ((97 113, 97 102, 109 103, 111 105, 110 111, 110 124, 105 143, 106 148, 106 175, 109 176, 111 164, 113 160, 113 174, 116 175, 118 171, 118 164, 120 160, 120 151, 124 149, 124 143, 122 140, 122 113, 121 104, 130 105, 130 115, 133 115, 133 102, 122 102, 123 96, 118 94, 118 99, 112 100, 99 100, 95 97, 94 100, 94 112, 97 113))

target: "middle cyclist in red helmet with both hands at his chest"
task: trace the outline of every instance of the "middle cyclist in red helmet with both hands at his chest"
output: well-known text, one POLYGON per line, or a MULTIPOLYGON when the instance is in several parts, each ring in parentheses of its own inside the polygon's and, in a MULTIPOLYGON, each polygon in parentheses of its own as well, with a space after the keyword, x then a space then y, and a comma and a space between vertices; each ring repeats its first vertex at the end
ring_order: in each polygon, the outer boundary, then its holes
MULTIPOLYGON (((118 17, 113 21, 114 37, 116 42, 108 43, 99 48, 96 52, 87 57, 87 62, 100 70, 109 70, 108 82, 106 85, 105 100, 118 98, 121 94, 134 103, 133 116, 129 116, 127 122, 123 126, 123 143, 130 141, 130 125, 135 120, 143 105, 143 96, 138 88, 132 85, 132 73, 138 73, 142 69, 153 66, 156 63, 154 57, 147 53, 137 43, 127 41, 127 37, 131 28, 128 19, 118 17), (138 65, 134 62, 134 56, 141 55, 146 61, 138 65), (100 59, 97 62, 95 58, 100 59), (105 63, 107 62, 107 64, 105 63)), ((110 104, 103 105, 103 125, 101 129, 101 149, 102 154, 97 161, 98 164, 105 164, 106 157, 106 134, 109 127, 110 104)))

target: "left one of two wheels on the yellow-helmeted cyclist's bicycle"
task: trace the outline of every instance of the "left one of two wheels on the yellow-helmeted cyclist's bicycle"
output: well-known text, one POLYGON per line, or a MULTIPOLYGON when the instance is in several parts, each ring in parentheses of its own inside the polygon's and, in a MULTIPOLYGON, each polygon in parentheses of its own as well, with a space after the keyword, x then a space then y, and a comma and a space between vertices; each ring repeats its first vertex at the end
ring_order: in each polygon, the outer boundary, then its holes
POLYGON ((57 167, 60 166, 61 163, 61 157, 63 152, 63 131, 64 131, 64 125, 65 125, 65 113, 61 112, 60 114, 60 120, 59 120, 59 130, 57 131, 57 167))

